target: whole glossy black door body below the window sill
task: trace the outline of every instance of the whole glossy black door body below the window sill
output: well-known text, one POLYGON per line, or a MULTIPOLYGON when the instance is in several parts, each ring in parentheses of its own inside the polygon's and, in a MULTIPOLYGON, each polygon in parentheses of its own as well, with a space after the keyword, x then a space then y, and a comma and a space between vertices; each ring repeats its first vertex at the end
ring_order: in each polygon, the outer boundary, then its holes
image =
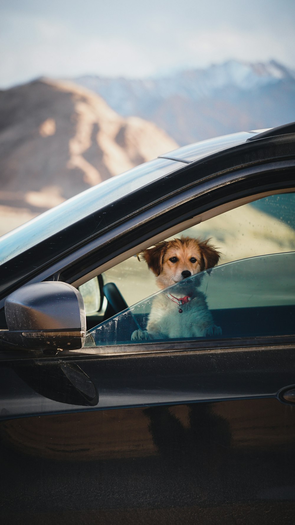
POLYGON ((3 523, 292 523, 295 412, 276 396, 294 344, 35 360, 52 381, 60 362, 95 407, 32 390, 30 359, 2 364, 3 523))

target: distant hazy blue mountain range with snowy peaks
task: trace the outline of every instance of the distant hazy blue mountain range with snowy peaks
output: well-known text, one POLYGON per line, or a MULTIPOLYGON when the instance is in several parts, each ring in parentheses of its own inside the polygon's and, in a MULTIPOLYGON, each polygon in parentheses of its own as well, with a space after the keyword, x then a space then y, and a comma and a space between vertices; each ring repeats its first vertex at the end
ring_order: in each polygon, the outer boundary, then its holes
POLYGON ((275 62, 231 60, 207 69, 149 79, 83 76, 122 116, 155 122, 184 145, 295 120, 295 71, 275 62))

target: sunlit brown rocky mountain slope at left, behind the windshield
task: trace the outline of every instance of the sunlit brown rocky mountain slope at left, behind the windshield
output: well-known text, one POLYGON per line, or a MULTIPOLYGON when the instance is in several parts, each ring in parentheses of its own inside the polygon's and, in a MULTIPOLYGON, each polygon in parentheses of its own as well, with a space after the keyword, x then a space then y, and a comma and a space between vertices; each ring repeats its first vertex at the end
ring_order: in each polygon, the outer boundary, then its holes
POLYGON ((123 118, 70 82, 42 79, 2 91, 2 211, 17 206, 40 213, 176 147, 154 123, 123 118))

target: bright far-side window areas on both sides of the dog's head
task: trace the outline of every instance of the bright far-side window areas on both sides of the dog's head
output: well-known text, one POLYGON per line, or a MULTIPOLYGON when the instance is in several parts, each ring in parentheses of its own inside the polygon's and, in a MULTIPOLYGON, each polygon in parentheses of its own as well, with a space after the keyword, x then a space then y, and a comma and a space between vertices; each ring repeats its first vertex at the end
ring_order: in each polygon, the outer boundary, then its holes
MULTIPOLYGON (((188 228, 181 235, 211 239, 220 263, 295 250, 295 194, 260 198, 188 228)), ((130 257, 103 274, 114 282, 128 306, 158 291, 145 261, 130 257)))

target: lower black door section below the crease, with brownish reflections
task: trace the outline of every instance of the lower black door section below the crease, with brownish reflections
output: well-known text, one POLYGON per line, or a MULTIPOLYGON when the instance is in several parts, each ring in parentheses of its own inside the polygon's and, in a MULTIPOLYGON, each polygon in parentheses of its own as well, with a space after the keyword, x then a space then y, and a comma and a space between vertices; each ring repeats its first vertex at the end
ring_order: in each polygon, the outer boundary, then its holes
POLYGON ((276 399, 0 423, 3 523, 292 523, 295 414, 276 399))

